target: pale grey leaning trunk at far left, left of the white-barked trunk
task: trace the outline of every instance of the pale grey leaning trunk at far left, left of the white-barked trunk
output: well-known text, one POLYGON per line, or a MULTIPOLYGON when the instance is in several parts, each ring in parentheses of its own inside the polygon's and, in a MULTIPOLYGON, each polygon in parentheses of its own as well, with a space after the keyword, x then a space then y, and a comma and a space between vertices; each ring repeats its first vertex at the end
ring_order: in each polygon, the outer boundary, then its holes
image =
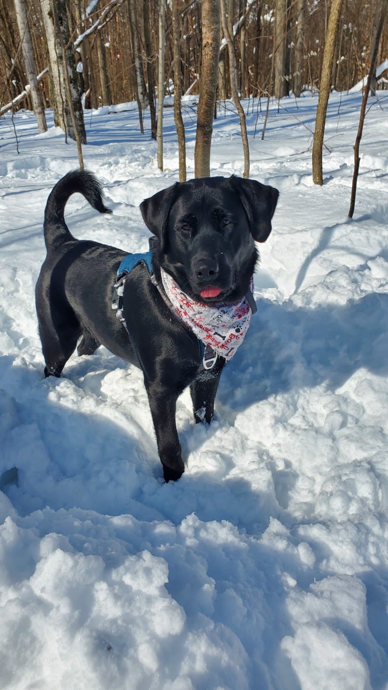
POLYGON ((30 84, 32 108, 37 118, 39 132, 47 132, 46 115, 44 113, 43 97, 37 81, 37 69, 35 67, 34 50, 32 48, 30 27, 28 26, 25 0, 14 0, 14 9, 19 28, 21 51, 23 52, 24 65, 26 66, 26 76, 30 84))

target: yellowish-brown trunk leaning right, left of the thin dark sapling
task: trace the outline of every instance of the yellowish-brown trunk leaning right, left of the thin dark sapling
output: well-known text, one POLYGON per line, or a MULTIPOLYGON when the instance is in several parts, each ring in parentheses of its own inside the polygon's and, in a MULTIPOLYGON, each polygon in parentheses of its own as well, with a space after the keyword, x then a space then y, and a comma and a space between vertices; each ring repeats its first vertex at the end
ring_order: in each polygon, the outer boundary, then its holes
POLYGON ((342 0, 333 0, 327 23, 326 41, 324 41, 324 52, 322 59, 322 70, 320 73, 320 88, 318 97, 318 107, 316 115, 316 129, 313 138, 313 183, 323 184, 322 172, 322 146, 324 135, 324 123, 326 120, 327 103, 329 102, 331 86, 331 67, 333 66, 334 49, 336 47, 336 35, 340 21, 342 0))

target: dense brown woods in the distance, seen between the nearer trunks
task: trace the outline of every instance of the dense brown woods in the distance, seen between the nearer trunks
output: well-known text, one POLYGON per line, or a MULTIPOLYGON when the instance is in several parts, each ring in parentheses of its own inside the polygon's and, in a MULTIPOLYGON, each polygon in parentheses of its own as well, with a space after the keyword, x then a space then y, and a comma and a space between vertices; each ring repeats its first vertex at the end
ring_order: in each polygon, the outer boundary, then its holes
MULTIPOLYGON (((20 3, 20 0, 19 0, 20 3)), ((0 106, 17 98, 26 88, 28 75, 21 50, 13 0, 0 0, 0 106)), ((48 66, 47 30, 43 11, 47 0, 23 0, 31 28, 36 73, 48 66)), ((50 5, 50 2, 48 3, 50 5)), ((199 89, 202 61, 202 5, 199 0, 166 3, 164 15, 164 90, 174 90, 173 6, 179 13, 179 53, 182 94, 199 89)), ((97 108, 110 103, 138 100, 144 107, 155 103, 159 50, 157 0, 55 0, 58 15, 66 14, 66 43, 75 61, 81 57, 81 84, 88 93, 86 105, 97 108)), ((324 43, 332 2, 330 0, 228 0, 237 86, 241 97, 276 98, 290 92, 300 96, 320 88, 324 43)), ((379 0, 343 0, 336 32, 331 86, 349 90, 368 72, 371 61, 374 19, 379 0)), ((50 11, 50 8, 49 8, 50 11)), ((64 21, 62 16, 59 16, 64 21)), ((229 55, 221 45, 217 100, 231 97, 229 55)), ((388 26, 382 28, 377 64, 387 57, 388 26)), ((382 76, 380 87, 387 86, 382 76)), ((46 108, 53 105, 46 72, 39 81, 46 108)), ((22 101, 32 109, 30 94, 22 101)), ((15 108, 21 107, 16 103, 15 108)))

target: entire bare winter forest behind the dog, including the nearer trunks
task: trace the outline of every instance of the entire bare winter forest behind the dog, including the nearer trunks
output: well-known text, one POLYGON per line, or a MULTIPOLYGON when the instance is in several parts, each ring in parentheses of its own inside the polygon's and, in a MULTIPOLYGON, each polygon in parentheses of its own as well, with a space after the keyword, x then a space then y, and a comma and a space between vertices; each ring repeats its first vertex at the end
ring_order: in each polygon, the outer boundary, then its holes
MULTIPOLYGON (((322 149, 331 90, 364 91, 349 217, 353 216, 359 146, 369 92, 385 86, 387 0, 0 0, 0 115, 23 101, 39 131, 55 125, 77 141, 84 168, 84 109, 137 101, 139 124, 149 107, 157 165, 163 170, 164 97, 173 94, 180 181, 186 180, 182 94, 195 95, 195 177, 210 175, 217 103, 231 99, 240 119, 244 177, 249 143, 240 99, 280 101, 318 92, 312 173, 323 184, 322 149), (376 67, 380 64, 379 72, 376 67), (377 79, 379 77, 379 79, 377 79), (159 95, 163 94, 160 98, 159 95), (8 103, 2 105, 6 97, 8 103)), ((249 106, 248 106, 249 108, 249 106)), ((262 138, 266 119, 262 129, 262 138)), ((16 135, 16 132, 15 132, 16 135)))

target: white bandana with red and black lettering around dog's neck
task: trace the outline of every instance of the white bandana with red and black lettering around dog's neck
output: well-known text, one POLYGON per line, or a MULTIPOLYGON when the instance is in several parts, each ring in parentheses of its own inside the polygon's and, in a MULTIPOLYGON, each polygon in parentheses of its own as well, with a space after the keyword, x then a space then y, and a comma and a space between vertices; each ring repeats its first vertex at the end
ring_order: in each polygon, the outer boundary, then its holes
MULTIPOLYGON (((220 302, 208 306, 188 297, 163 268, 160 273, 166 295, 186 326, 205 346, 210 345, 217 355, 231 359, 242 344, 251 322, 251 307, 246 297, 233 304, 220 302)), ((253 293, 253 278, 250 289, 253 293)))

